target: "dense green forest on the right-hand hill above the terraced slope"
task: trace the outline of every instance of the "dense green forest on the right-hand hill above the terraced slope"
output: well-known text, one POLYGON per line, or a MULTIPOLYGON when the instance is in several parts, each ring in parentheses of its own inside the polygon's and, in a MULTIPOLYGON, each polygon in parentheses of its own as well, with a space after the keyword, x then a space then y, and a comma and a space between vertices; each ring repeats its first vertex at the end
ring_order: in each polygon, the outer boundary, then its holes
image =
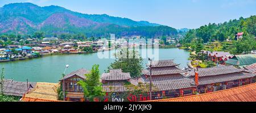
POLYGON ((201 38, 204 43, 212 41, 225 41, 226 39, 235 40, 236 34, 243 32, 245 36, 256 36, 256 16, 250 18, 240 18, 229 20, 224 23, 209 23, 200 28, 187 32, 182 43, 191 43, 195 38, 201 38))

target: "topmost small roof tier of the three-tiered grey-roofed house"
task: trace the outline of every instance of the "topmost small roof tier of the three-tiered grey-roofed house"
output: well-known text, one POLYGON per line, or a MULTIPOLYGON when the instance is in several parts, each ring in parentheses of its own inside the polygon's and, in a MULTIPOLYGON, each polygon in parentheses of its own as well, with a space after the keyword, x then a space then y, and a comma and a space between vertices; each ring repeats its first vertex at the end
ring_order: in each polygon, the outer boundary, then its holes
POLYGON ((159 61, 152 61, 152 68, 160 68, 160 67, 168 67, 168 66, 177 66, 174 60, 159 60, 159 61))

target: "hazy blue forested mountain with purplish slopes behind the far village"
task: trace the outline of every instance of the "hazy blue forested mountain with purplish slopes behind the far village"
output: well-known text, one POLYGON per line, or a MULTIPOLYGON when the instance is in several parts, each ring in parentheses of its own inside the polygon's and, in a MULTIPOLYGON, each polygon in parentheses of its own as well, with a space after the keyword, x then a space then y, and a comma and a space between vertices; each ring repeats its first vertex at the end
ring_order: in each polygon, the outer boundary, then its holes
POLYGON ((32 35, 36 31, 46 36, 84 34, 86 36, 141 35, 173 36, 175 28, 146 21, 134 21, 114 16, 81 14, 59 6, 40 7, 32 3, 11 3, 0 8, 0 34, 32 35))

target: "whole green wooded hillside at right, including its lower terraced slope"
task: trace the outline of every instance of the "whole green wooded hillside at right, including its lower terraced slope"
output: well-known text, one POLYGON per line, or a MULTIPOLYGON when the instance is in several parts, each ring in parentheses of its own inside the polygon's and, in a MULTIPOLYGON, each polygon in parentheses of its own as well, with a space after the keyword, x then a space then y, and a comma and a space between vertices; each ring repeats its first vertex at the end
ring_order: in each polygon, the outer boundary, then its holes
MULTIPOLYGON (((207 51, 226 51, 232 54, 250 53, 256 49, 256 16, 240 18, 229 22, 201 26, 189 30, 181 43, 184 48, 196 50, 197 43, 204 44, 207 51), (243 32, 242 39, 237 39, 236 34, 243 32), (197 39, 203 40, 202 42, 197 39), (228 39, 228 40, 227 40, 228 39), (211 43, 220 43, 220 47, 208 48, 211 43)), ((201 49, 201 48, 200 48, 201 49)), ((198 50, 199 51, 199 50, 198 50)))

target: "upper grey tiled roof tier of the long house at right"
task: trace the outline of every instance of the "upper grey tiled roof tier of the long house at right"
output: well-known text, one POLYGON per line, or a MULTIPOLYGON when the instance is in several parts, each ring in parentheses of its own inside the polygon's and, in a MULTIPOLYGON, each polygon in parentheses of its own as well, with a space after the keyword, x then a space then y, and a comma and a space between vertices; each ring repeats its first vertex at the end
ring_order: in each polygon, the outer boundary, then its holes
POLYGON ((234 66, 218 66, 213 68, 199 68, 199 77, 217 76, 220 74, 237 73, 242 70, 234 68, 234 66))

